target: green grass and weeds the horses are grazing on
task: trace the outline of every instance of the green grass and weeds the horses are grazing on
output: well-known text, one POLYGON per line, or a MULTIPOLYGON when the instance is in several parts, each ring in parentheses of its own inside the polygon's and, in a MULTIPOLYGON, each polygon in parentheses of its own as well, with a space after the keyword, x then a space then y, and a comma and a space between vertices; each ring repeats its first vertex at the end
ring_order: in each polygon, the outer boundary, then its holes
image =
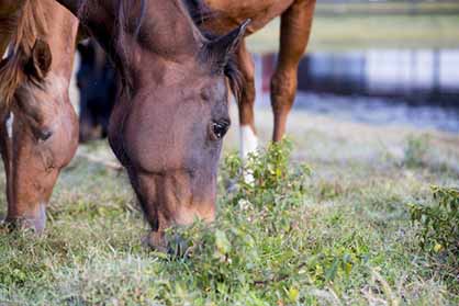
MULTIPOLYGON (((257 121, 269 139, 270 114, 257 121)), ((0 234, 0 304, 457 305, 457 270, 422 250, 408 204, 429 203, 432 184, 459 185, 459 137, 302 112, 289 134, 292 159, 288 146, 255 159, 254 185, 226 158, 215 225, 170 233, 186 258, 144 248, 126 177, 80 154, 46 233, 0 234), (229 177, 238 188, 226 192, 229 177)), ((103 141, 80 152, 113 158, 103 141)))

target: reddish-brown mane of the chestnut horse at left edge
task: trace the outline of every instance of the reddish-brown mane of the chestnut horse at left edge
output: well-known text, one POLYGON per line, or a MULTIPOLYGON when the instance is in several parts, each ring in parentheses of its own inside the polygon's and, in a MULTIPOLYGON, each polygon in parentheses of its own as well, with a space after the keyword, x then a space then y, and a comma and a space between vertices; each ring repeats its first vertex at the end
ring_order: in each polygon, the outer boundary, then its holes
POLYGON ((47 33, 42 1, 24 0, 16 20, 10 20, 2 26, 5 26, 4 32, 12 33, 8 57, 0 65, 0 109, 9 112, 16 89, 26 79, 22 69, 24 61, 31 57, 36 39, 47 33))

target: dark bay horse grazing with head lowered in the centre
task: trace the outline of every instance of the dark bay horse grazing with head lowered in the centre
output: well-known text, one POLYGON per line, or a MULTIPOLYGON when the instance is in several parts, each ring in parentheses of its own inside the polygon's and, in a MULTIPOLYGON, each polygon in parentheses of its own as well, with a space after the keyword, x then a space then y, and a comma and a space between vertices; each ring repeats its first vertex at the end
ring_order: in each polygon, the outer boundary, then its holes
POLYGON ((242 83, 234 52, 248 22, 204 36, 182 0, 58 0, 113 61, 119 93, 109 143, 152 227, 215 215, 217 162, 229 127, 228 87, 242 83))

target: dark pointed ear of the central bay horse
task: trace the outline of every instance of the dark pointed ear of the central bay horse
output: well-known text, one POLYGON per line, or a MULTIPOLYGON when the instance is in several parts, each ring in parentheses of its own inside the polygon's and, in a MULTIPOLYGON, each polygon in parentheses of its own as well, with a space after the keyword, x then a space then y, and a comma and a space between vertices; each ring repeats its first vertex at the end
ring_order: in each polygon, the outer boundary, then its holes
POLYGON ((240 41, 244 38, 244 34, 251 20, 247 19, 228 34, 221 36, 208 44, 208 50, 213 55, 213 58, 217 59, 216 64, 220 68, 224 68, 228 64, 231 55, 235 53, 240 41))

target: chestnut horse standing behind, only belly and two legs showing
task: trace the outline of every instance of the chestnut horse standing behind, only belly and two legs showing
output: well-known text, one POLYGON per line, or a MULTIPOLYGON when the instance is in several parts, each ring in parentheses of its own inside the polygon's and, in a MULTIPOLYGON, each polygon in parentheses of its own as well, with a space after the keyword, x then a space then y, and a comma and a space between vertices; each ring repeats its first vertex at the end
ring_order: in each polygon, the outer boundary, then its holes
MULTIPOLYGON (((246 19, 251 19, 246 36, 281 16, 280 52, 271 79, 271 105, 275 117, 272 140, 286 132, 287 116, 296 91, 298 65, 304 54, 311 33, 315 0, 184 0, 194 22, 216 34, 225 33, 246 19)), ((243 41, 237 48, 237 60, 245 82, 238 101, 240 124, 240 154, 246 157, 257 147, 254 125, 254 63, 243 41)))

